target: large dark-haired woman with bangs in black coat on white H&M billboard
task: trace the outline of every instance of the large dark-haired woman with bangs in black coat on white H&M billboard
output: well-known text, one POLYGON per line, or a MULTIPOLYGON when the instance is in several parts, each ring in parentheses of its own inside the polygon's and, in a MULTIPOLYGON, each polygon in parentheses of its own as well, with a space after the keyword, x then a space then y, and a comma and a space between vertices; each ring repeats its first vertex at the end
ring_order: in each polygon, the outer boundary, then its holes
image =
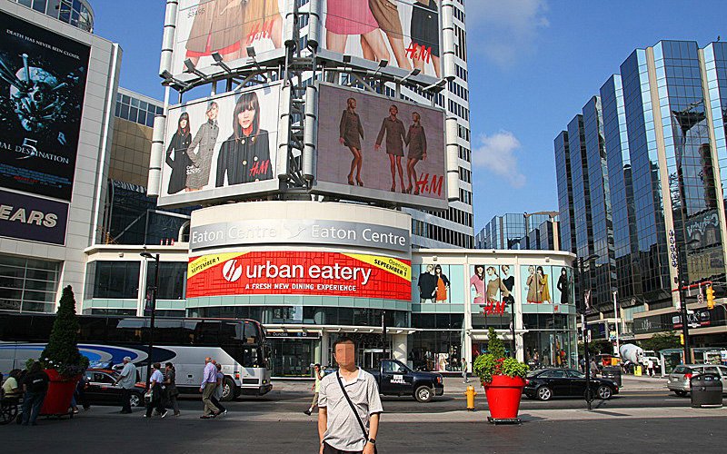
POLYGON ((229 186, 273 178, 268 133, 260 129, 260 102, 255 92, 242 94, 234 105, 233 133, 217 157, 218 188, 224 186, 225 175, 229 186))

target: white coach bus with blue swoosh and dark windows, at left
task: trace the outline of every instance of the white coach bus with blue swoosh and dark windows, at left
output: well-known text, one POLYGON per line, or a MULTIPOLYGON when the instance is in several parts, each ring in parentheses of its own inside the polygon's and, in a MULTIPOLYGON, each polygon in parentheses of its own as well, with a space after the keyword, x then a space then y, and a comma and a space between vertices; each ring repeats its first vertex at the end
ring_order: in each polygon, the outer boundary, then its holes
MULTIPOLYGON (((55 315, 0 312, 0 372, 25 368, 40 357, 50 337, 55 315)), ((92 367, 111 368, 132 358, 146 377, 149 318, 82 315, 78 349, 92 367)), ((204 358, 222 365, 223 399, 240 394, 263 395, 272 390, 270 348, 263 325, 240 319, 156 318, 153 362, 172 362, 176 386, 182 392, 199 390, 204 358)))

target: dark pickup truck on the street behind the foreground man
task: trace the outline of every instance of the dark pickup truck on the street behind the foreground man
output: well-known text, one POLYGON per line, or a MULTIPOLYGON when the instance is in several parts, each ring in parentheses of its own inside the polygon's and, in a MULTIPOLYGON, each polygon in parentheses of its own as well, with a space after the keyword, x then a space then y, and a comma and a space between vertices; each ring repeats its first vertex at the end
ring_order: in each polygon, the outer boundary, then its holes
POLYGON ((413 396, 420 402, 429 402, 444 394, 442 375, 433 372, 415 372, 401 361, 382 360, 379 369, 366 369, 379 385, 384 396, 413 396))

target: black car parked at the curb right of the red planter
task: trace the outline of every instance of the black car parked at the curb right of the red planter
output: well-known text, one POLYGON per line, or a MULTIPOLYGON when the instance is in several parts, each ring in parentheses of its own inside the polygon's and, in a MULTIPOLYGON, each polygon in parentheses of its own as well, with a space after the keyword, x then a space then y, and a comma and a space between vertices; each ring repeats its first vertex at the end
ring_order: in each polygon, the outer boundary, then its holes
MULTIPOLYGON (((609 379, 592 378, 590 385, 596 399, 608 400, 619 392, 616 382, 609 379)), ((585 374, 578 370, 543 369, 528 374, 523 393, 529 399, 551 400, 553 397, 583 398, 585 390, 585 374)))

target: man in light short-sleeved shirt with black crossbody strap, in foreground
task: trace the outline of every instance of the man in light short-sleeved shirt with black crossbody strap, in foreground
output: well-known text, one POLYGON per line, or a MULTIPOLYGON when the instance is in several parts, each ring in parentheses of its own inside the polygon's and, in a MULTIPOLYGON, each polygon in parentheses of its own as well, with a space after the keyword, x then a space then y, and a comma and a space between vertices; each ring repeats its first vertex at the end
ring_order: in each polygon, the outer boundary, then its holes
POLYGON ((338 370, 321 380, 318 397, 320 454, 374 454, 383 412, 373 375, 356 367, 356 344, 341 337, 334 343, 338 370))

